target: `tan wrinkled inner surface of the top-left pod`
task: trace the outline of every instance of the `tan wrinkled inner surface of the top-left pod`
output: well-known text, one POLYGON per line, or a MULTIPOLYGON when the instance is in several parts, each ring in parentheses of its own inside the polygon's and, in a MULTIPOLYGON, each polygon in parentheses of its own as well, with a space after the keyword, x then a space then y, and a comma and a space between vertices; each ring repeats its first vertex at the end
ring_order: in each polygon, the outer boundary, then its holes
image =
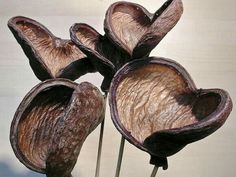
POLYGON ((53 76, 71 62, 85 57, 71 41, 54 38, 35 24, 19 21, 16 25, 32 43, 53 76))

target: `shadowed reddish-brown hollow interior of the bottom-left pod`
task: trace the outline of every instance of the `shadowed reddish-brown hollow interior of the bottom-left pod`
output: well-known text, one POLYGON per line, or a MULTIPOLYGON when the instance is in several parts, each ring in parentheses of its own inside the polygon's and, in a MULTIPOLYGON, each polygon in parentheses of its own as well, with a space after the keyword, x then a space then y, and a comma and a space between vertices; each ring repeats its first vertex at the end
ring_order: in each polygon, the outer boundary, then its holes
POLYGON ((18 145, 35 166, 46 167, 53 131, 64 114, 72 92, 67 87, 41 92, 24 111, 18 127, 18 145))

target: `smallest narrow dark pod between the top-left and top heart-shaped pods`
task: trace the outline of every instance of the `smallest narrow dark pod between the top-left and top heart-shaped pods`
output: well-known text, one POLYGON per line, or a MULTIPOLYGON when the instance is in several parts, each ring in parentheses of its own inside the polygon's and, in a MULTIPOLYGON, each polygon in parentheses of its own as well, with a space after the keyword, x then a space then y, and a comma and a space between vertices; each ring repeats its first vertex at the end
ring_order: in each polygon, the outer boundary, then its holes
POLYGON ((106 36, 84 23, 76 23, 70 28, 71 40, 91 60, 96 70, 104 77, 103 90, 107 90, 115 72, 129 61, 129 55, 117 48, 106 36))

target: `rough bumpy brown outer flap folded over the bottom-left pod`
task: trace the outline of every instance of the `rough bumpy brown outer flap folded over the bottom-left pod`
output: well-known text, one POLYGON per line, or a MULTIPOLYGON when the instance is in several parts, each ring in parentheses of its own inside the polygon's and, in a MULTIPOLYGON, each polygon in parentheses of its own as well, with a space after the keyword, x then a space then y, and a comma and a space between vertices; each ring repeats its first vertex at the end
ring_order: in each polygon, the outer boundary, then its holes
MULTIPOLYGON (((103 96, 90 83, 81 83, 74 91, 63 118, 57 127, 47 157, 47 175, 70 174, 86 137, 103 120, 103 96)), ((67 176, 65 176, 67 177, 67 176)))

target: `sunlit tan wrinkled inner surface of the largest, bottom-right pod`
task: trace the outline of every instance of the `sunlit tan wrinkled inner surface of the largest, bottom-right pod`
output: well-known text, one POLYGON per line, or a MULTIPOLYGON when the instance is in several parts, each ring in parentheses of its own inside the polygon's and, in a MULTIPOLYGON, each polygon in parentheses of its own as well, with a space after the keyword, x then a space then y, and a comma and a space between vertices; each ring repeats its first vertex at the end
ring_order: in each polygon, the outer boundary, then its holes
POLYGON ((195 123, 191 100, 177 101, 188 92, 183 78, 167 66, 153 64, 129 72, 117 88, 121 123, 140 142, 153 132, 195 123))

